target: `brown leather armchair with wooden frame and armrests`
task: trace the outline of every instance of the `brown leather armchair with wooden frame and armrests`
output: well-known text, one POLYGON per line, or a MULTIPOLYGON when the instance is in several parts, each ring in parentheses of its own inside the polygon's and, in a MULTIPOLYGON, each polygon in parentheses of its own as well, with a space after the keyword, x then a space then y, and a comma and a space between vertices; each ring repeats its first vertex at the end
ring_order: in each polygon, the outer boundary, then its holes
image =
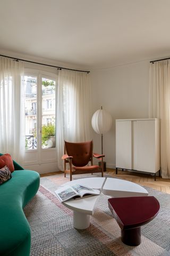
POLYGON ((101 172, 101 177, 103 177, 103 157, 105 155, 92 153, 92 141, 64 142, 64 155, 62 156, 64 160, 64 177, 66 177, 66 173, 70 173, 70 180, 72 180, 73 174, 92 174, 96 172, 101 172), (93 157, 101 160, 101 167, 93 165, 93 157), (91 162, 91 165, 87 165, 89 162, 91 162), (69 170, 66 170, 66 164, 69 164, 69 170))

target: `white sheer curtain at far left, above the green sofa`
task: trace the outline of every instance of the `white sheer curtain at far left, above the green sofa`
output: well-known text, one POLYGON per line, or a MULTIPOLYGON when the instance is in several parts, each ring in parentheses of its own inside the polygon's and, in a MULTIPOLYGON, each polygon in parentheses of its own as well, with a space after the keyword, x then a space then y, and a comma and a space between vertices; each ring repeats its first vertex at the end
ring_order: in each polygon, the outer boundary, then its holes
POLYGON ((24 153, 24 64, 0 57, 0 153, 21 161, 24 153))

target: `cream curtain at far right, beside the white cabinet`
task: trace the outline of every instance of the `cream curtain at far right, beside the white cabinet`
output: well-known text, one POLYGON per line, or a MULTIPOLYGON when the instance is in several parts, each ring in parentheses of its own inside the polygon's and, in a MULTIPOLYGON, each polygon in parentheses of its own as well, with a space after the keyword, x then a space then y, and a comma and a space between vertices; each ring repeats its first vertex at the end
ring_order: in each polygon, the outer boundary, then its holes
POLYGON ((160 118, 162 177, 170 178, 170 61, 150 63, 149 117, 160 118))

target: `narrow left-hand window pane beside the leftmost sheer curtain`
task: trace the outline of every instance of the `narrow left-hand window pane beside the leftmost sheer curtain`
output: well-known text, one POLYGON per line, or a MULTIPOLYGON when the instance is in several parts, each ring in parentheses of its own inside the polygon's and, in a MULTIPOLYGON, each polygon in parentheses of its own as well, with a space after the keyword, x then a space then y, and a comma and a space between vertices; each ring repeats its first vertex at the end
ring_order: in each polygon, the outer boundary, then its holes
POLYGON ((24 76, 25 149, 37 149, 37 77, 24 76))

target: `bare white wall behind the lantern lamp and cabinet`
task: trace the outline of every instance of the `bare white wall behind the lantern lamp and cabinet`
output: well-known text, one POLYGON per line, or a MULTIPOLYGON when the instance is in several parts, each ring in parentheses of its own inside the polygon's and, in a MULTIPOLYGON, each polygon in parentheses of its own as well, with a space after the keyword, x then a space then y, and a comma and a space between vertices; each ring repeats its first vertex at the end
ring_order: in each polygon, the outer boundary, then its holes
MULTIPOLYGON (((104 134, 107 167, 115 167, 115 119, 148 118, 149 61, 90 73, 92 114, 103 106, 113 117, 112 129, 104 134)), ((101 138, 93 133, 94 151, 100 153, 101 138)))

